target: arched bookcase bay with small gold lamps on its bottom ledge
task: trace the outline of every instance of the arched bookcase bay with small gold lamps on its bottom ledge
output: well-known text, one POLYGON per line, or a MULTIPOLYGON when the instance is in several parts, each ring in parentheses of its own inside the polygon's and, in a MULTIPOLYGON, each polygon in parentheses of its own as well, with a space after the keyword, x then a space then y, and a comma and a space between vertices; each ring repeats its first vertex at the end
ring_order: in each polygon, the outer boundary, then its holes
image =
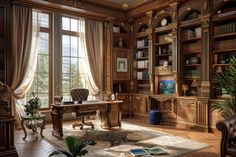
POLYGON ((199 96, 197 89, 202 81, 202 28, 199 16, 197 11, 190 12, 180 24, 180 95, 199 96))

